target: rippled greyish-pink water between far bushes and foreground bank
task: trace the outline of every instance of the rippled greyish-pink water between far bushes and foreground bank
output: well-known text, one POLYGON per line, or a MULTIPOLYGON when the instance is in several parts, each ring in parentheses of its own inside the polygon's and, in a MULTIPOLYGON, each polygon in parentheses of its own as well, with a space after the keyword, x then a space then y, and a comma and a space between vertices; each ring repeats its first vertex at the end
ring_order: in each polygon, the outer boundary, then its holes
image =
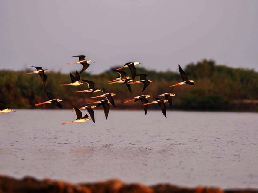
MULTIPOLYGON (((102 107, 100 107, 102 108, 102 107)), ((83 115, 87 111, 83 111, 83 115)), ((0 174, 69 182, 119 178, 258 188, 258 114, 95 110, 95 121, 71 110, 0 114, 0 174)))

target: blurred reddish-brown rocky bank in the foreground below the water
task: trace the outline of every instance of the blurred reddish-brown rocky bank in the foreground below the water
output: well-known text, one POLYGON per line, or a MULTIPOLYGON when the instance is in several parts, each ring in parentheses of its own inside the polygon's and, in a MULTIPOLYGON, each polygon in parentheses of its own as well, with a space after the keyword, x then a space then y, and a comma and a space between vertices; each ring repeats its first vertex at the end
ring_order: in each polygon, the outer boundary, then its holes
POLYGON ((37 180, 32 177, 14 179, 0 176, 0 193, 258 193, 258 190, 222 190, 203 187, 182 188, 171 184, 146 186, 126 184, 118 179, 96 183, 71 184, 51 179, 37 180))

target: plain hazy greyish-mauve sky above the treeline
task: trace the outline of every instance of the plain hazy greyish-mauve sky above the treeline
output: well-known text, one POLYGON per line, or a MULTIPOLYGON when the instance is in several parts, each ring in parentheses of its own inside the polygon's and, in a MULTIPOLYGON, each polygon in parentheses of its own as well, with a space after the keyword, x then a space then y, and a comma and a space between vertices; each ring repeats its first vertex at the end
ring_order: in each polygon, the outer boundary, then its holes
POLYGON ((0 68, 69 72, 139 61, 177 70, 203 58, 258 71, 258 1, 0 1, 0 68))

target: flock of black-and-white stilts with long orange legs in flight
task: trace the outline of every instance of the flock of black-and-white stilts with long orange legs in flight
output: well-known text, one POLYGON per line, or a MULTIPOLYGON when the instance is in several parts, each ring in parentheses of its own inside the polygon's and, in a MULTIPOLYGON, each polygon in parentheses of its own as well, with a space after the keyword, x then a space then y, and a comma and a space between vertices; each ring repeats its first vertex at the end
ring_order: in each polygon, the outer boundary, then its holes
MULTIPOLYGON (((93 61, 91 60, 86 60, 85 59, 85 55, 78 55, 78 56, 72 56, 72 57, 79 57, 79 61, 77 62, 72 62, 72 63, 67 63, 67 65, 71 65, 71 64, 81 64, 83 65, 83 68, 80 71, 80 74, 85 71, 91 63, 93 61)), ((120 74, 120 76, 116 77, 116 79, 112 80, 112 81, 108 81, 108 84, 115 84, 115 83, 122 83, 125 84, 127 89, 129 90, 129 92, 132 93, 131 91, 131 84, 138 84, 138 83, 142 83, 143 84, 143 88, 142 88, 142 92, 149 86, 149 84, 152 82, 152 80, 147 79, 147 74, 136 74, 136 65, 141 64, 140 62, 129 62, 126 63, 124 66, 122 66, 121 68, 118 68, 114 71, 116 71, 117 73, 120 74), (127 73, 124 71, 121 71, 121 69, 123 68, 129 68, 129 70, 131 71, 131 77, 127 76, 127 73), (139 76, 139 80, 135 81, 136 76, 139 76)), ((44 92, 46 93, 47 97, 48 97, 48 101, 45 101, 43 103, 38 103, 35 104, 35 106, 39 106, 39 105, 44 105, 47 103, 53 103, 54 105, 56 105, 57 107, 62 109, 62 105, 61 105, 61 101, 64 101, 62 99, 57 99, 53 94, 51 94, 49 91, 46 90, 45 86, 46 86, 46 82, 47 82, 47 76, 45 74, 45 72, 49 71, 47 69, 42 69, 42 67, 38 67, 38 66, 31 66, 36 68, 36 71, 33 72, 29 72, 26 74, 39 74, 41 79, 42 79, 42 85, 43 85, 43 89, 44 92)), ((182 82, 178 83, 178 84, 174 84, 171 85, 170 87, 173 86, 177 86, 177 85, 184 85, 184 84, 188 84, 188 85, 195 85, 193 82, 194 80, 189 80, 187 77, 187 74, 185 73, 185 71, 183 71, 183 69, 181 68, 180 65, 178 65, 179 68, 179 73, 181 75, 182 78, 182 82)), ((51 72, 51 71, 49 71, 51 72)), ((109 93, 107 92, 104 88, 100 89, 100 88, 95 88, 95 83, 93 81, 89 81, 89 80, 85 80, 85 79, 81 79, 80 78, 80 74, 78 73, 78 71, 76 71, 75 76, 73 76, 73 74, 70 73, 70 78, 71 78, 71 83, 68 84, 60 84, 60 86, 66 86, 66 85, 70 85, 70 86, 79 86, 81 84, 83 84, 84 82, 86 82, 88 84, 88 89, 87 90, 81 90, 81 91, 76 91, 78 92, 89 92, 89 93, 96 93, 96 92, 100 92, 102 91, 102 95, 99 96, 94 96, 94 97, 90 97, 91 99, 94 98, 100 98, 100 97, 105 97, 106 99, 104 100, 100 100, 100 101, 96 101, 96 102, 92 102, 92 103, 87 103, 87 106, 83 106, 80 109, 78 109, 76 106, 74 106, 72 103, 72 107, 73 107, 73 111, 75 112, 77 119, 74 121, 70 121, 70 122, 65 122, 62 123, 62 125, 64 124, 68 124, 68 123, 73 123, 73 122, 86 122, 89 119, 89 116, 86 114, 84 116, 82 116, 82 112, 81 110, 86 109, 87 112, 90 115, 91 120, 95 123, 95 117, 94 117, 94 111, 93 108, 95 108, 96 106, 103 106, 104 109, 104 114, 105 117, 107 119, 108 117, 108 113, 109 113, 109 108, 110 105, 113 107, 115 106, 115 101, 113 99, 113 96, 115 96, 115 93, 109 93), (81 82, 81 81, 82 82, 81 82), (91 105, 91 104, 97 104, 97 105, 91 105), (109 105, 110 104, 110 105, 109 105)), ((150 102, 147 100, 147 98, 150 97, 150 95, 139 95, 139 96, 135 96, 133 97, 133 99, 125 101, 124 103, 128 103, 130 101, 136 102, 136 101, 141 101, 142 105, 143 105, 143 109, 145 112, 145 115, 147 115, 147 109, 148 109, 148 105, 150 104, 158 104, 158 106, 160 107, 163 115, 165 117, 166 116, 166 106, 165 106, 165 102, 168 102, 169 106, 172 107, 172 96, 175 96, 175 94, 173 93, 164 93, 164 94, 159 94, 159 95, 154 95, 153 97, 155 98, 154 101, 150 102), (164 99, 162 99, 162 97, 164 97, 164 99)), ((13 109, 9 109, 10 107, 6 107, 6 103, 4 102, 0 102, 0 113, 8 113, 8 112, 15 112, 13 109)))

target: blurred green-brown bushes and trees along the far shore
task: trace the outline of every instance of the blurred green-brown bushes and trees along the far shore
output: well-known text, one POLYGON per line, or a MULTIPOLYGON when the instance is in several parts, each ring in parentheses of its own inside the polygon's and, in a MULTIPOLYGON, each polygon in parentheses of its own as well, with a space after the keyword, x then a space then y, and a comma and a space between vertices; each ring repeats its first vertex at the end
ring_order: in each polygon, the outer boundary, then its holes
MULTIPOLYGON (((79 69, 81 65, 77 67, 79 69)), ((173 106, 172 108, 167 107, 168 110, 258 112, 258 73, 254 70, 216 65, 214 60, 204 59, 196 64, 190 63, 184 68, 188 78, 195 80, 196 86, 169 87, 182 81, 178 72, 157 72, 137 67, 137 74, 148 74, 147 78, 152 79, 153 82, 143 93, 141 93, 142 84, 132 85, 132 93, 130 93, 123 84, 108 84, 109 80, 113 80, 119 75, 113 71, 117 67, 100 74, 89 74, 87 71, 81 74, 82 79, 95 82, 96 88, 105 88, 108 92, 116 93, 114 96, 116 109, 142 109, 141 102, 123 104, 124 101, 130 100, 134 96, 174 93, 176 96, 172 97, 173 106)), ((51 70, 49 66, 44 66, 44 68, 51 70)), ((37 74, 25 75, 30 71, 31 69, 25 71, 0 70, 0 101, 5 101, 14 109, 56 109, 56 106, 51 104, 34 106, 36 103, 46 101, 47 96, 42 88, 41 78, 37 74)), ((128 69, 125 71, 130 74, 128 69)), ((74 72, 72 73, 74 74, 74 72)), ((58 98, 73 101, 76 106, 94 102, 96 100, 90 99, 90 97, 100 94, 100 92, 75 93, 75 91, 87 89, 87 84, 78 87, 59 86, 69 82, 68 73, 49 72, 47 73, 46 89, 58 98)), ((151 97, 148 100, 154 99, 151 97)), ((64 109, 71 109, 70 103, 64 102, 62 105, 64 109)), ((149 109, 157 108, 156 105, 149 106, 149 109)))

